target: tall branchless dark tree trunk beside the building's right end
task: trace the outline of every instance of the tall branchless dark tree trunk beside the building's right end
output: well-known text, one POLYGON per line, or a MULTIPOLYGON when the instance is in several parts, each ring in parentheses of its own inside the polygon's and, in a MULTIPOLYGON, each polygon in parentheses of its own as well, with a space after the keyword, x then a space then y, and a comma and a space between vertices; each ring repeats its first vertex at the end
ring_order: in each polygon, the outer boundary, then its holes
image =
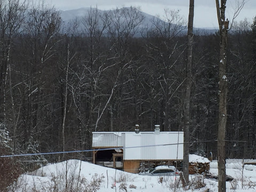
POLYGON ((187 65, 186 65, 186 91, 184 100, 184 150, 183 150, 183 174, 188 183, 189 166, 189 124, 190 124, 190 93, 191 93, 191 64, 193 49, 193 21, 194 21, 194 0, 189 1, 188 16, 188 45, 187 45, 187 65))

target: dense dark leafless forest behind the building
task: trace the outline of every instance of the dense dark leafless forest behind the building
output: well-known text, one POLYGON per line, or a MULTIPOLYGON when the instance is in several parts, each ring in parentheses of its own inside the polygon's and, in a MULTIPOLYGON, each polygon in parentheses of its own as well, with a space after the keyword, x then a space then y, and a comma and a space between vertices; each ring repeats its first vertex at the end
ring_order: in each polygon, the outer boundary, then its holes
MULTIPOLYGON (((182 131, 187 23, 165 16, 141 28, 135 7, 91 9, 64 23, 54 7, 0 1, 0 154, 91 149, 92 132, 135 124, 182 131)), ((214 158, 219 38, 194 31, 190 100, 190 153, 214 158)), ((229 30, 227 79, 227 158, 256 158, 256 17, 229 30)))

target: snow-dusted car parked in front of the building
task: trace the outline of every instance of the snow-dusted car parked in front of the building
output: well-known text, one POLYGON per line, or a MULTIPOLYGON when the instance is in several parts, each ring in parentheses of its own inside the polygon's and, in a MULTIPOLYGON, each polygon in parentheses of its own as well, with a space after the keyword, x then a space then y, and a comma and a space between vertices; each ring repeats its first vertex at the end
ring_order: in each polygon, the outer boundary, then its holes
POLYGON ((153 170, 140 173, 140 174, 150 175, 150 176, 173 176, 173 175, 178 175, 179 171, 174 166, 161 165, 161 166, 155 167, 153 170))

